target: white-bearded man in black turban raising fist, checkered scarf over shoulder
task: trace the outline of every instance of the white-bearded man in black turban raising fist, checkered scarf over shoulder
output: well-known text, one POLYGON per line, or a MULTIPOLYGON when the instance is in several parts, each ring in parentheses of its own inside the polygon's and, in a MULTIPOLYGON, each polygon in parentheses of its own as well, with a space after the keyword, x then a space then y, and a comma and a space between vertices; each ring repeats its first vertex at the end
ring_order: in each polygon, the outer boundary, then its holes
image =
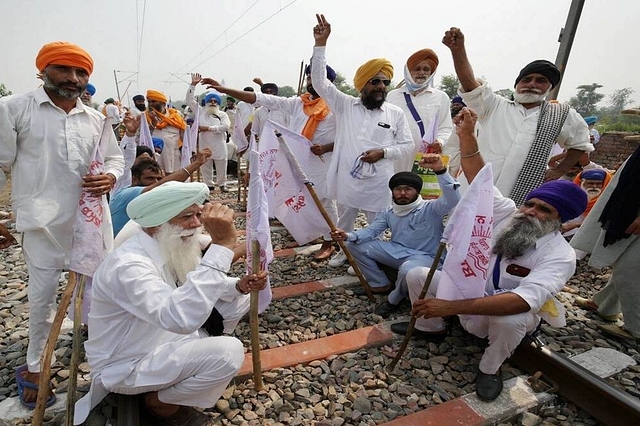
POLYGON ((545 101, 561 78, 551 62, 536 60, 527 64, 515 80, 514 100, 493 92, 475 77, 467 58, 464 35, 451 28, 442 39, 450 50, 459 93, 478 114, 482 132, 478 146, 491 163, 496 187, 517 206, 543 181, 560 178, 578 162, 584 152, 593 151, 584 119, 567 104, 545 101), (555 143, 567 150, 562 162, 547 170, 555 143))

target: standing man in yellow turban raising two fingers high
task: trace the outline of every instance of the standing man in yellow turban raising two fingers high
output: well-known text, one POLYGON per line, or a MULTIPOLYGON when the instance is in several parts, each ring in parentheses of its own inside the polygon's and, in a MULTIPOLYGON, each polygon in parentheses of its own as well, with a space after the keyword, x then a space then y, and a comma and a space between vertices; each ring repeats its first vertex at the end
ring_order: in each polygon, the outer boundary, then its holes
MULTIPOLYGON (((353 80, 359 97, 339 91, 326 78, 325 50, 331 26, 316 15, 315 47, 311 58, 311 81, 316 92, 336 115, 334 154, 327 171, 327 196, 338 202, 338 228, 354 228, 358 211, 369 223, 391 203, 389 179, 393 160, 413 152, 407 118, 400 108, 386 102, 387 87, 393 78, 391 63, 382 58, 364 63, 353 80)), ((346 261, 344 253, 329 265, 346 261)), ((375 290, 375 289, 374 289, 375 290)))

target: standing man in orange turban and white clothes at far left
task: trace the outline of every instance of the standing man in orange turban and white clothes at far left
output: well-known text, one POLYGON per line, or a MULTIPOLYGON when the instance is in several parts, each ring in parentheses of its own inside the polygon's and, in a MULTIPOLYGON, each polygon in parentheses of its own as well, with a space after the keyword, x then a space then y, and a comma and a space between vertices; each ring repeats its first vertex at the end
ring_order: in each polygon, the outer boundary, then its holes
MULTIPOLYGON (((92 244, 110 247, 106 194, 124 168, 111 128, 103 132, 105 117, 80 101, 93 71, 91 56, 75 44, 53 42, 40 49, 35 63, 42 87, 0 99, 0 166, 11 168, 16 230, 22 233, 29 270, 29 346, 26 364, 16 375, 21 379, 20 401, 31 408, 38 396, 40 357, 55 314, 58 280, 63 270, 78 268, 71 250, 78 205, 83 200, 83 213, 103 214, 86 221, 102 225, 103 241, 92 244), (105 147, 104 161, 94 168, 99 142, 105 147)), ((129 135, 131 143, 134 136, 129 135)), ((2 168, 0 189, 6 183, 2 168)), ((99 262, 99 256, 93 260, 99 262)), ((91 269, 89 263, 84 266, 91 269)), ((55 395, 50 394, 47 404, 53 402, 55 395)))

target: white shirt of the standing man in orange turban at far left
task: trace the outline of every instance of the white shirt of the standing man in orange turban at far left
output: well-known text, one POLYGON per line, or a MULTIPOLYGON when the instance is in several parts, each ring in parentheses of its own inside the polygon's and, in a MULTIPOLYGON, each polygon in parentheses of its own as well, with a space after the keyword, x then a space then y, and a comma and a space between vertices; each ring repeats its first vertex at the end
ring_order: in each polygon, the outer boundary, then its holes
MULTIPOLYGON (((71 230, 105 117, 80 100, 67 114, 41 87, 0 99, 0 165, 11 167, 11 198, 19 232, 46 230, 71 247, 71 230)), ((105 173, 122 176, 124 159, 111 128, 105 173)), ((6 183, 0 170, 0 189, 6 183)), ((108 214, 108 213, 107 213, 108 214)))

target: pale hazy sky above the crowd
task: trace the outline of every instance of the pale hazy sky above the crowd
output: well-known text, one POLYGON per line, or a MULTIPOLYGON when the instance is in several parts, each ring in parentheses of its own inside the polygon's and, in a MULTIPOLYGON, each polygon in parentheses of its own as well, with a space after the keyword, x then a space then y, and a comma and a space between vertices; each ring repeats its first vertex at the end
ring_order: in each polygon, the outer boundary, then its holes
MULTIPOLYGON (((570 0, 5 0, 0 25, 0 83, 14 93, 36 88, 34 61, 43 44, 81 45, 95 62, 94 98, 125 104, 149 88, 183 99, 189 72, 228 86, 265 82, 296 86, 300 62, 312 53, 315 13, 332 24, 329 64, 352 81, 356 68, 386 57, 402 79, 406 59, 430 47, 440 76, 453 72, 444 31, 457 26, 476 75, 494 89, 512 88, 519 70, 539 58, 555 60, 570 0), (419 6, 418 6, 419 5, 419 6), (184 81, 181 81, 183 79, 184 81)), ((638 0, 586 0, 559 99, 597 82, 600 92, 631 87, 640 104, 638 0)), ((257 87, 253 85, 254 87, 257 87)), ((198 92, 204 88, 198 89, 198 92)), ((606 98, 603 103, 606 103, 606 98)))

